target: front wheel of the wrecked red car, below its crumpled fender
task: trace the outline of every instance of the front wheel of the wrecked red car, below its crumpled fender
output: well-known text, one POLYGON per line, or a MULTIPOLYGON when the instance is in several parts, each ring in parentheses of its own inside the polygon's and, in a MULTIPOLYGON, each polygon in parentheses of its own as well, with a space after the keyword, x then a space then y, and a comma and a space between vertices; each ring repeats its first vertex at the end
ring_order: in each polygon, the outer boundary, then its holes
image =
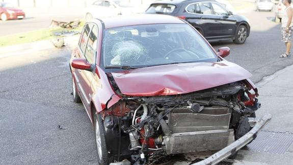
POLYGON ((105 127, 101 115, 97 113, 94 113, 94 128, 98 162, 101 165, 108 165, 111 163, 111 158, 106 148, 105 127))

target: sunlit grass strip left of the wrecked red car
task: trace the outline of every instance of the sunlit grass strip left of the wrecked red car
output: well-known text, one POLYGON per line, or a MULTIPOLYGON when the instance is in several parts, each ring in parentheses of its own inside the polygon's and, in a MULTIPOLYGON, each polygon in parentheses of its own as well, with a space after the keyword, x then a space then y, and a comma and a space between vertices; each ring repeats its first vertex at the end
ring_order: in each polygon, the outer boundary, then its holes
POLYGON ((65 28, 45 28, 45 29, 39 29, 31 32, 25 32, 25 33, 17 33, 7 36, 1 36, 0 37, 0 47, 1 46, 8 46, 8 45, 14 45, 14 44, 20 44, 20 43, 27 43, 27 42, 34 42, 34 41, 40 41, 40 40, 47 40, 52 38, 59 38, 61 36, 55 36, 54 34, 56 32, 62 32, 62 31, 78 31, 81 32, 82 28, 84 26, 84 22, 81 22, 79 26, 75 29, 65 29, 65 28))

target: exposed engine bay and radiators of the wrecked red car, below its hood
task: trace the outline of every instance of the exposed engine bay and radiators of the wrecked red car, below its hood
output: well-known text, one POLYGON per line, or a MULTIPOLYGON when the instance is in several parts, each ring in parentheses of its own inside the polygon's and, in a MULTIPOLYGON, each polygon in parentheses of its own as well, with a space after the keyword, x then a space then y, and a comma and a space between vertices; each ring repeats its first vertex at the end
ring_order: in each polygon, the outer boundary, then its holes
POLYGON ((260 107, 249 80, 152 97, 124 96, 110 82, 121 98, 101 113, 106 132, 112 132, 105 135, 111 139, 107 149, 117 161, 144 164, 162 153, 217 152, 252 129, 251 119, 260 107))

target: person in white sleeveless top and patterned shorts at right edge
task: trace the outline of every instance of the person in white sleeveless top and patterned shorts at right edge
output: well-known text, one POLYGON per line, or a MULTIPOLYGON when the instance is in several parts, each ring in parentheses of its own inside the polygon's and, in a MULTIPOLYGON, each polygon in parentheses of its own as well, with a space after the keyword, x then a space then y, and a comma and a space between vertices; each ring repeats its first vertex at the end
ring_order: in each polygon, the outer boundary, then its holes
POLYGON ((282 17, 282 42, 285 42, 286 53, 283 53, 280 57, 289 57, 291 49, 291 35, 293 31, 293 9, 291 7, 291 0, 283 0, 282 3, 286 6, 284 16, 282 17))

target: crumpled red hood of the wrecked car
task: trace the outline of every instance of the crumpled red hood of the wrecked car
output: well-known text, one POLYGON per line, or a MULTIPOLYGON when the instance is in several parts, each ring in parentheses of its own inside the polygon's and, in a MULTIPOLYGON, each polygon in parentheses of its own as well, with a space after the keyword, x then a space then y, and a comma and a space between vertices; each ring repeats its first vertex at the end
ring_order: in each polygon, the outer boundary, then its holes
POLYGON ((248 79, 252 75, 228 61, 160 65, 112 73, 126 96, 189 93, 248 79))

